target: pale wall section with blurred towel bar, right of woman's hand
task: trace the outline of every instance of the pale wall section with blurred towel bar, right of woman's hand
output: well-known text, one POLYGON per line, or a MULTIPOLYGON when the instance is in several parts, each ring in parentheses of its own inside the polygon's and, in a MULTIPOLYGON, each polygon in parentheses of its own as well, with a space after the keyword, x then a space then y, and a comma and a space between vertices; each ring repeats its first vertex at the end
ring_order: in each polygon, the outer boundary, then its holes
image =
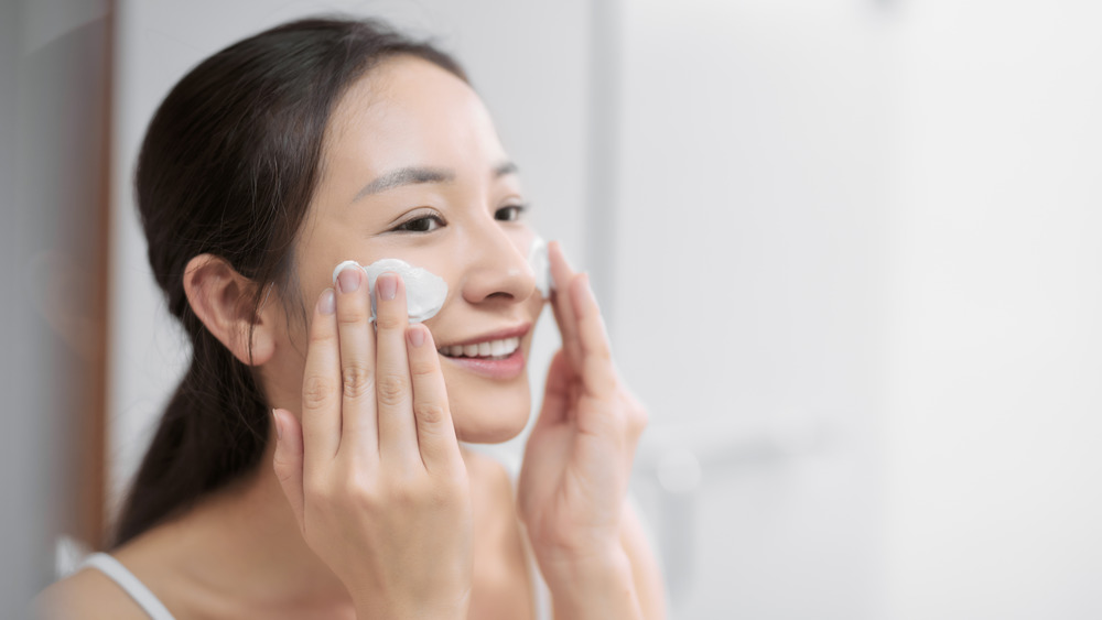
POLYGON ((678 491, 648 496, 677 618, 882 617, 893 26, 853 0, 625 2, 611 325, 678 491))

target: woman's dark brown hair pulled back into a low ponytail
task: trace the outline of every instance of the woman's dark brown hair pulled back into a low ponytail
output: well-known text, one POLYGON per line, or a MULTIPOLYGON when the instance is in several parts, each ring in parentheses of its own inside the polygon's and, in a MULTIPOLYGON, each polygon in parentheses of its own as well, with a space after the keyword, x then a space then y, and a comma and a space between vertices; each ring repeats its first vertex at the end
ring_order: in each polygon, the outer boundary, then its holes
MULTIPOLYGON (((325 127, 347 87, 378 62, 413 55, 466 80, 428 43, 375 20, 307 19, 250 36, 192 69, 142 143, 136 188, 149 261, 192 344, 123 504, 114 545, 256 469, 271 414, 250 368, 192 312, 184 268, 212 253, 284 304, 293 248, 317 184, 325 127)), ((299 302, 301 304, 301 300, 299 302)))

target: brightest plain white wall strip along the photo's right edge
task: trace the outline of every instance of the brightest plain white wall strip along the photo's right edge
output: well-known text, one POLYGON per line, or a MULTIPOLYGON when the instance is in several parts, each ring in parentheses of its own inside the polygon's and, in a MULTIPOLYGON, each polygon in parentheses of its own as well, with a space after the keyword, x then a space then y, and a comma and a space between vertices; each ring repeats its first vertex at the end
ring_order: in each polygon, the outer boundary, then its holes
POLYGON ((1102 7, 905 6, 888 617, 1102 618, 1102 7))

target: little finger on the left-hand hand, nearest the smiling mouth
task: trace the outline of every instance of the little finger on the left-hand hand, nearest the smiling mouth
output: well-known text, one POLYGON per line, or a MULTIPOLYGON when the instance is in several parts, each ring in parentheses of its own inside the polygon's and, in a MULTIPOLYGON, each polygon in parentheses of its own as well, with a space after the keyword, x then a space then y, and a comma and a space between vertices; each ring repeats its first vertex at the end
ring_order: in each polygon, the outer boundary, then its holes
POLYGON ((440 371, 440 355, 424 325, 411 325, 406 341, 413 385, 413 418, 421 461, 429 471, 455 465, 462 459, 455 438, 447 389, 440 371))

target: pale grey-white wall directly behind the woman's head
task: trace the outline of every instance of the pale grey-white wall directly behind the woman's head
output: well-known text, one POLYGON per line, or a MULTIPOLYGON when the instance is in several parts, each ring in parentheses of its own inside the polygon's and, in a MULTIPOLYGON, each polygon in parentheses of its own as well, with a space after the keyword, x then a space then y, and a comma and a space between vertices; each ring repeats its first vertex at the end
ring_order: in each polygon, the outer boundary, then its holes
MULTIPOLYGON (((111 507, 137 467, 161 407, 187 361, 145 259, 131 178, 145 126, 169 89, 199 61, 264 28, 307 14, 382 17, 434 36, 456 54, 521 168, 532 218, 584 265, 586 54, 584 0, 266 2, 120 0, 115 161, 115 289, 109 437, 111 507)), ((550 315, 548 315, 550 316, 550 315)), ((532 358, 533 393, 558 335, 544 318, 532 358)), ((506 449, 516 454, 519 442, 506 449)))

